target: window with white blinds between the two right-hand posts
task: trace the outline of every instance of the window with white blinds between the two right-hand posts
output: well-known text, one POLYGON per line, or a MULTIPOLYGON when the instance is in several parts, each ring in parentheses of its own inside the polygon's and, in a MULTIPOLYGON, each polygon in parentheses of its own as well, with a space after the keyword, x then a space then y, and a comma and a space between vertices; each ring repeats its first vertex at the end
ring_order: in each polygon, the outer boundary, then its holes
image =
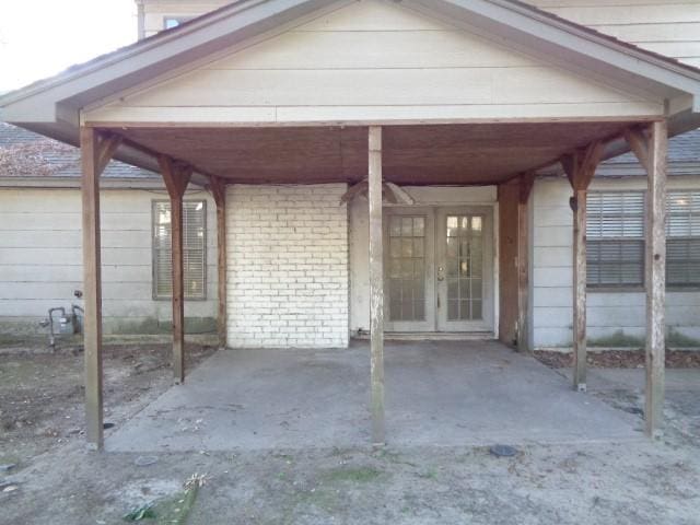
POLYGON ((586 202, 587 285, 642 285, 644 192, 591 191, 586 202))

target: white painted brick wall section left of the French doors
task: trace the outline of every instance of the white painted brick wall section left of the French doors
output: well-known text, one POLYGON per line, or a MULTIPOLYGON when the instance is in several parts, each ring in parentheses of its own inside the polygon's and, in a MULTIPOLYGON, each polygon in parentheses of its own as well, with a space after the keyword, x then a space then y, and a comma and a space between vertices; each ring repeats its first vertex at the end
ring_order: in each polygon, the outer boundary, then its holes
POLYGON ((339 206, 346 190, 229 186, 229 346, 348 346, 348 210, 339 206))

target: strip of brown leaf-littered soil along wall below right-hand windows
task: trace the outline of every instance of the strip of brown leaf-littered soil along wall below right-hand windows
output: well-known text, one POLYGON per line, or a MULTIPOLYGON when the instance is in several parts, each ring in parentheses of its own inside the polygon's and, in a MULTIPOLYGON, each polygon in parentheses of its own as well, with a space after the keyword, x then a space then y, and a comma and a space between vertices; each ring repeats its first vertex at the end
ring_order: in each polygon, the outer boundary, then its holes
MULTIPOLYGON (((537 350, 535 358, 552 369, 568 369, 573 365, 571 352, 537 350)), ((586 362, 599 369, 643 369, 644 350, 600 350, 588 351, 586 362)), ((667 350, 667 369, 700 369, 700 351, 667 350)))

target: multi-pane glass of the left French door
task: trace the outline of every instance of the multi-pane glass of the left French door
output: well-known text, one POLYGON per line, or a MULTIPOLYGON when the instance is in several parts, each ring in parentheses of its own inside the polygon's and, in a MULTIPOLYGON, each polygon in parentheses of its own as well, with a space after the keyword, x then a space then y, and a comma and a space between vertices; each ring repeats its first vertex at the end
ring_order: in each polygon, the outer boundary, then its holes
POLYGON ((389 320, 425 320, 425 218, 389 218, 389 320))

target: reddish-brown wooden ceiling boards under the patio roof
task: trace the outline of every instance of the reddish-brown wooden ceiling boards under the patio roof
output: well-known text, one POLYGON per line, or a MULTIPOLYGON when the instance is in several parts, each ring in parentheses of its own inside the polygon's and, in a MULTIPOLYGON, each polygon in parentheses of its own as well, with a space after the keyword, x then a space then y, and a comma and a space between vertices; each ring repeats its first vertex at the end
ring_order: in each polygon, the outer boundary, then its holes
MULTIPOLYGON (((384 177, 401 185, 494 184, 556 162, 630 122, 386 126, 384 177)), ((236 183, 355 183, 366 127, 119 128, 115 132, 236 183)))

